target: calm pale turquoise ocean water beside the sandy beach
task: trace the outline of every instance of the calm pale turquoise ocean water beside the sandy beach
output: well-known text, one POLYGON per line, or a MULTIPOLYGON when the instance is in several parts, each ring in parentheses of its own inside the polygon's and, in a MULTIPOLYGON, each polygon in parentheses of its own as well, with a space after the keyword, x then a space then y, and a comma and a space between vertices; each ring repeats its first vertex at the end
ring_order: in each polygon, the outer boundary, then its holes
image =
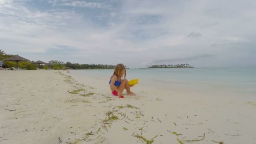
MULTIPOLYGON (((72 74, 109 82, 114 69, 72 70, 72 74)), ((138 86, 176 93, 217 93, 256 98, 256 67, 127 69, 138 86)))

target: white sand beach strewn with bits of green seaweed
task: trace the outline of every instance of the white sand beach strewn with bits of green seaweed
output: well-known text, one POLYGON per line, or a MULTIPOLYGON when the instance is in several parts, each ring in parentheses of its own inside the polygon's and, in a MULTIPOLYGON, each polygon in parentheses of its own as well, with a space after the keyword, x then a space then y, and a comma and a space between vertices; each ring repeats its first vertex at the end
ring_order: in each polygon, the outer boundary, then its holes
POLYGON ((203 139, 199 136, 204 133, 205 139, 193 143, 256 144, 255 98, 181 95, 139 84, 132 88, 137 96, 118 99, 106 81, 71 74, 73 80, 68 71, 58 72, 0 72, 0 144, 74 144, 90 132, 77 144, 145 144, 134 137, 141 135, 141 128, 146 139, 157 136, 153 144, 203 139), (107 112, 119 119, 103 122, 107 112))

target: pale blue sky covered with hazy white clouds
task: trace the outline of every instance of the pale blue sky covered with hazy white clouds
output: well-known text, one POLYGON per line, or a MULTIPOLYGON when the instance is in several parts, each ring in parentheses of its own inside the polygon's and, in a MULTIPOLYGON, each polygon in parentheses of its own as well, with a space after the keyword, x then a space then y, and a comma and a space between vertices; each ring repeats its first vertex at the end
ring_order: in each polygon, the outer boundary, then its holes
POLYGON ((256 66, 255 0, 0 0, 0 49, 30 61, 256 66))

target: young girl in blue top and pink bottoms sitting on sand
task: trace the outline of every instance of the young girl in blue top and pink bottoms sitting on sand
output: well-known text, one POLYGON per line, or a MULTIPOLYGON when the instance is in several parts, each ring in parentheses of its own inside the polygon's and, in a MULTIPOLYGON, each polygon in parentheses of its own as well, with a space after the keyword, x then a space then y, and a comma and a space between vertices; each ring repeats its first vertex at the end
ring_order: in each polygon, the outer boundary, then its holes
POLYGON ((109 81, 110 89, 113 95, 122 97, 121 95, 123 90, 126 89, 128 95, 135 96, 135 94, 130 90, 130 87, 133 85, 129 85, 128 80, 122 79, 123 75, 126 77, 125 66, 123 64, 117 64, 115 66, 114 74, 109 81))

